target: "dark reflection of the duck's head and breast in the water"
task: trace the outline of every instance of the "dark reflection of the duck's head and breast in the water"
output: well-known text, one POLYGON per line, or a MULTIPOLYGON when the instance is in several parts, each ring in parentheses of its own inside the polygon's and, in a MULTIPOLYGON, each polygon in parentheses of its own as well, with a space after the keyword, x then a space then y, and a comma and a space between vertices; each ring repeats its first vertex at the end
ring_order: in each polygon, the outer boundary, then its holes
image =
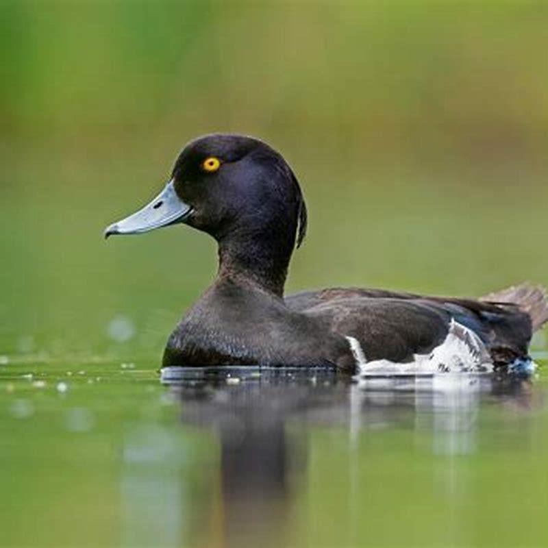
POLYGON ((298 418, 337 393, 343 408, 345 387, 337 384, 269 379, 173 387, 183 422, 211 427, 219 440, 222 508, 214 512, 227 545, 284 544, 308 460, 307 421, 298 418))

